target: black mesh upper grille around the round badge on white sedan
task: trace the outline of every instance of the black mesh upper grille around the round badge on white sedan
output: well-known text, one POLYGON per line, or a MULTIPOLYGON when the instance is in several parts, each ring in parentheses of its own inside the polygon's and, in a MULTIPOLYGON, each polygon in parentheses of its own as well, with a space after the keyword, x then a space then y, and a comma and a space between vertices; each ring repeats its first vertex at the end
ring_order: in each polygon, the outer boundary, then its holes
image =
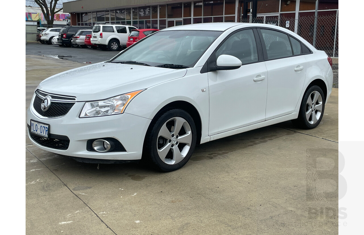
POLYGON ((75 103, 68 103, 68 102, 51 101, 51 105, 48 108, 48 110, 43 111, 41 109, 42 101, 43 101, 42 98, 40 98, 38 95, 35 95, 33 107, 34 107, 35 111, 37 111, 37 113, 39 113, 43 117, 47 117, 47 118, 62 117, 64 115, 66 115, 68 113, 68 111, 70 111, 72 106, 75 104, 75 103))

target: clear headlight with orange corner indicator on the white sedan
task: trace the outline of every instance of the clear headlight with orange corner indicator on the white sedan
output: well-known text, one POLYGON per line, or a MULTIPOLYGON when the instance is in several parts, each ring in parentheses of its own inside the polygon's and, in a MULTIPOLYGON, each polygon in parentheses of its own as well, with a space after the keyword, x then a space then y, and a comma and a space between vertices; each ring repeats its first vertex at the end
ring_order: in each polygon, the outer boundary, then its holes
MULTIPOLYGON (((146 89, 144 89, 146 90, 146 89)), ((99 117, 105 115, 113 115, 124 113, 128 103, 139 93, 144 90, 133 91, 127 94, 118 95, 112 98, 86 102, 80 113, 80 118, 83 117, 99 117)))

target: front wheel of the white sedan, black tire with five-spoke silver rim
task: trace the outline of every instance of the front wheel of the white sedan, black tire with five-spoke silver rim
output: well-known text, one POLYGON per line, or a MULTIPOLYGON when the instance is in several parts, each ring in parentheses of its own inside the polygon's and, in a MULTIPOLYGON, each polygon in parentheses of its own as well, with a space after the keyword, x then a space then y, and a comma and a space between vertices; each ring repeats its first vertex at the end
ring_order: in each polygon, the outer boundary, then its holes
POLYGON ((196 139, 196 127, 190 114, 182 109, 166 111, 152 121, 142 159, 163 172, 178 170, 191 158, 196 139), (176 125, 179 128, 175 131, 176 125))

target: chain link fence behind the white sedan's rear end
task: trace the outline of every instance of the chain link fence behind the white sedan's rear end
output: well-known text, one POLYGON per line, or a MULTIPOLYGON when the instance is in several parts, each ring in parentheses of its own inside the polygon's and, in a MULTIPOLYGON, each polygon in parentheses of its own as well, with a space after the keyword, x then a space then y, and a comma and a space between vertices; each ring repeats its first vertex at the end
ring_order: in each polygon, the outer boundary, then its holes
POLYGON ((285 16, 263 17, 253 19, 241 19, 243 23, 273 24, 296 32, 317 50, 325 51, 328 56, 339 57, 339 16, 318 15, 315 28, 315 16, 301 16, 295 25, 295 19, 285 16), (289 21, 289 24, 286 24, 289 21), (288 27, 287 27, 288 26, 288 27), (315 34, 316 31, 316 34, 315 34))

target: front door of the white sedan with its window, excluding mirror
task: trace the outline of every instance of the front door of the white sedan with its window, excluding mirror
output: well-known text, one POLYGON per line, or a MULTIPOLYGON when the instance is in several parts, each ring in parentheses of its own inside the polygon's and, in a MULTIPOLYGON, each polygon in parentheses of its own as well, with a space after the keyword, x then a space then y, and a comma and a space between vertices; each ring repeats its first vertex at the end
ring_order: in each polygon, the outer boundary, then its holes
MULTIPOLYGON (((254 29, 255 30, 255 29, 254 29)), ((215 52, 241 60, 235 70, 208 72, 209 136, 265 121, 267 70, 258 60, 253 29, 231 35, 215 52)))

